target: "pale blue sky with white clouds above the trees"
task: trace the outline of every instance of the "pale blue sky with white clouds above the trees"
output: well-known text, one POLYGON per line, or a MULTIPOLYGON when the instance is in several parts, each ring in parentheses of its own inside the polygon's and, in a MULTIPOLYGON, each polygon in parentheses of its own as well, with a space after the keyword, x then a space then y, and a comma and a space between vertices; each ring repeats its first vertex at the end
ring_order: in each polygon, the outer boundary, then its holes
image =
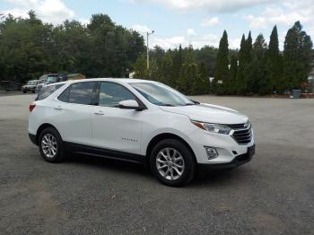
POLYGON ((65 19, 88 23, 92 14, 106 13, 113 22, 128 29, 154 33, 150 48, 178 48, 191 44, 218 47, 227 30, 229 47, 239 48, 242 34, 249 30, 255 39, 263 33, 266 41, 274 25, 280 47, 293 22, 301 21, 314 38, 314 0, 1 0, 0 13, 26 17, 34 10, 44 22, 65 19))

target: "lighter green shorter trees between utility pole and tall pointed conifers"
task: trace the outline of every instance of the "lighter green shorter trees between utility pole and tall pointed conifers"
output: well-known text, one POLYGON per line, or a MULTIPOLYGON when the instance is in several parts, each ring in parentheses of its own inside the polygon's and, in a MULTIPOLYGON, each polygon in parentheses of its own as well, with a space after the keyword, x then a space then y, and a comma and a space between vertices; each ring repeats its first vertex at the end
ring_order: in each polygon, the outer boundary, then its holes
POLYGON ((217 48, 208 46, 200 49, 179 46, 167 51, 156 46, 149 52, 149 70, 145 53, 136 59, 134 77, 166 83, 188 95, 206 94, 210 89, 209 76, 214 75, 217 52, 217 48))

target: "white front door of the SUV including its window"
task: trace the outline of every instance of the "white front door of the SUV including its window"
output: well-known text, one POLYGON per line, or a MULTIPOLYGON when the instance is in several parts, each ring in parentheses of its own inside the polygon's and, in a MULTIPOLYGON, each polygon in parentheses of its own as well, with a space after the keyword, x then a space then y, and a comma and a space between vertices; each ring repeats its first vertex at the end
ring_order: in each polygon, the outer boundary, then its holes
POLYGON ((143 112, 119 109, 122 100, 135 100, 135 96, 119 83, 100 83, 99 106, 94 107, 92 115, 93 145, 139 154, 143 112))

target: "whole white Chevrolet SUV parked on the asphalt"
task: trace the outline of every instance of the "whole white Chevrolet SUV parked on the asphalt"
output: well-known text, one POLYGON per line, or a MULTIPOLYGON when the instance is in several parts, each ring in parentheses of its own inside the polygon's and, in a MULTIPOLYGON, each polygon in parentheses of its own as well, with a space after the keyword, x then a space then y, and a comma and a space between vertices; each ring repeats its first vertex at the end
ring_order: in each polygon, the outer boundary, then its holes
POLYGON ((153 81, 54 83, 30 111, 29 135, 46 161, 75 152, 140 162, 168 186, 187 184, 199 166, 236 167, 255 152, 248 117, 153 81))

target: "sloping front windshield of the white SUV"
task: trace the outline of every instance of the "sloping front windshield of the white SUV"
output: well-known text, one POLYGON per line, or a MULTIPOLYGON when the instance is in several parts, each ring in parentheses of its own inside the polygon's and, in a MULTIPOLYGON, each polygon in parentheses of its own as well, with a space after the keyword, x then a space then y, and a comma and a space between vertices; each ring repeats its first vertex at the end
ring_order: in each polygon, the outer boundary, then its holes
POLYGON ((146 100, 160 106, 194 105, 185 95, 161 83, 129 83, 146 100))

